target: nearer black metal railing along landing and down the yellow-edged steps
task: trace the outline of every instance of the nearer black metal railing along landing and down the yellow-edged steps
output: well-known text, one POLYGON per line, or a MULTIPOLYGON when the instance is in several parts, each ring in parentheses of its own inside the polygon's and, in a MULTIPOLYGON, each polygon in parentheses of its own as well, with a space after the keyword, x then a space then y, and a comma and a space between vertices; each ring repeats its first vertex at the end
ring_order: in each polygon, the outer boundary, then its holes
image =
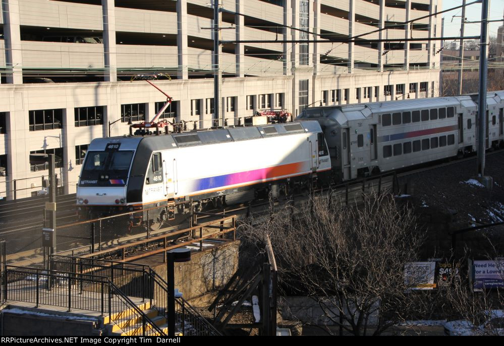
POLYGON ((119 325, 127 334, 166 335, 106 276, 6 266, 3 289, 8 301, 99 312, 109 323, 134 321, 119 325))

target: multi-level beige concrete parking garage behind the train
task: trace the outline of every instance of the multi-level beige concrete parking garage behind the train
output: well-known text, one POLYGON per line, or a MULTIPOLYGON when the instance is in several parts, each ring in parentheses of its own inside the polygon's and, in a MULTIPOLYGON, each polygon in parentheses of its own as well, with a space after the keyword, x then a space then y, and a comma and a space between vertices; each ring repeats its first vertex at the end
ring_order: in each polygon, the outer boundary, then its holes
MULTIPOLYGON (((137 75, 164 76, 153 82, 174 99, 163 117, 188 122, 189 129, 211 127, 217 117, 210 2, 4 0, 0 196, 28 197, 41 189, 47 167, 30 164, 35 152, 54 153, 60 183, 75 192, 90 141, 109 131, 127 134, 128 120, 149 121, 166 100, 137 75)), ((395 25, 435 13, 441 0, 220 5, 221 39, 231 41, 220 59, 221 116, 228 125, 262 109, 296 116, 312 103, 438 95, 439 41, 401 40, 439 37, 441 16, 395 25), (328 41, 287 42, 303 39, 328 41), (234 42, 244 40, 271 42, 234 42)))

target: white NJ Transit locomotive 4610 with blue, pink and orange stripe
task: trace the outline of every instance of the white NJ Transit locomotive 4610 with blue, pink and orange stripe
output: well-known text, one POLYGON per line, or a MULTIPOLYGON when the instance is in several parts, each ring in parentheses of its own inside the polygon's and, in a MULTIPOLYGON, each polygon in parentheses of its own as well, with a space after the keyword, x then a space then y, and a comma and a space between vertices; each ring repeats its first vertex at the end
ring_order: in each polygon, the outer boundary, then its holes
POLYGON ((316 121, 100 138, 88 147, 77 203, 86 217, 166 207, 149 215, 159 222, 176 205, 252 200, 329 170, 316 121))

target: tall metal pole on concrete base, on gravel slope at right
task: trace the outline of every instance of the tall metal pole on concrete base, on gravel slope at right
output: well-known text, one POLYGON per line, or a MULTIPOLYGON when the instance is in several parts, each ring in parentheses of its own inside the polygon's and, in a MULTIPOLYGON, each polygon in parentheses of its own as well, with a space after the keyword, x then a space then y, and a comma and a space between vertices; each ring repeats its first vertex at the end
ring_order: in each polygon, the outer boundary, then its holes
POLYGON ((479 103, 478 103, 478 181, 487 189, 491 189, 493 181, 491 177, 485 177, 485 149, 486 149, 486 79, 488 69, 488 2, 481 1, 481 40, 479 57, 479 103))

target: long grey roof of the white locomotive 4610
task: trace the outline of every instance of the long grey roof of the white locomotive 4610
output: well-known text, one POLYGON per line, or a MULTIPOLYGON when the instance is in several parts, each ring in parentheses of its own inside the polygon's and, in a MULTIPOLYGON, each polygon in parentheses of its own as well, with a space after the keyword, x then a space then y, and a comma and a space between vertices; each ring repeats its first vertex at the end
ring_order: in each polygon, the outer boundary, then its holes
POLYGON ((120 150, 133 150, 139 145, 149 147, 153 151, 225 143, 273 136, 285 136, 295 133, 320 132, 320 125, 316 121, 292 122, 285 124, 268 124, 261 126, 247 126, 229 129, 206 131, 189 131, 170 135, 159 136, 123 136, 110 138, 97 138, 91 142, 88 150, 103 150, 108 143, 121 143, 120 150))

